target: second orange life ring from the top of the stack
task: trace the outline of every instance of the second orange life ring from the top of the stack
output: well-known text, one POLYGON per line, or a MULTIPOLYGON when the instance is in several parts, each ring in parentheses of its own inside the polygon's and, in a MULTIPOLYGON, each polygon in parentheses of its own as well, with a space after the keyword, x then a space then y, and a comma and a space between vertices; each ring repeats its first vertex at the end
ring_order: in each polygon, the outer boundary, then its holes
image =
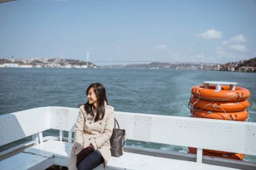
POLYGON ((194 96, 190 97, 190 102, 194 107, 203 110, 211 110, 216 112, 241 112, 249 107, 249 101, 209 101, 198 99, 194 96))

